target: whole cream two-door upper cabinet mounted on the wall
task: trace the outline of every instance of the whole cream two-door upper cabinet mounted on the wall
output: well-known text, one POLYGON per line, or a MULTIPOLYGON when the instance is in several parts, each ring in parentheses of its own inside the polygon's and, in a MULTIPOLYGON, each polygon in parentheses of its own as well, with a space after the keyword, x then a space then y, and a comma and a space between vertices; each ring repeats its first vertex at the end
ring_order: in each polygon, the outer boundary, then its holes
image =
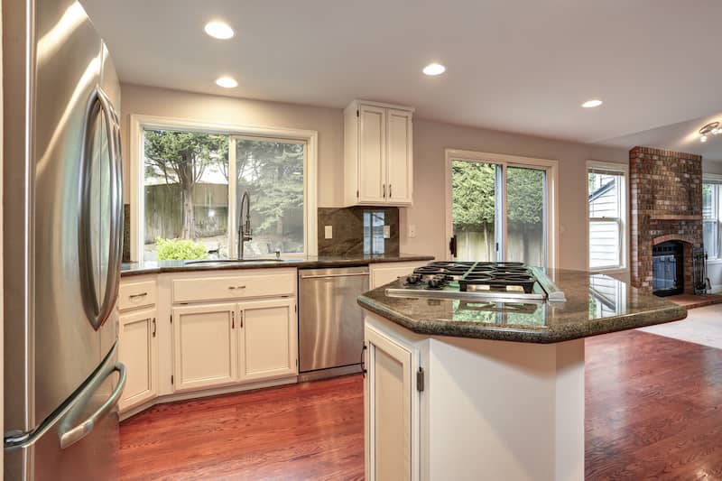
POLYGON ((413 109, 354 100, 344 110, 344 202, 408 206, 413 190, 413 109))

